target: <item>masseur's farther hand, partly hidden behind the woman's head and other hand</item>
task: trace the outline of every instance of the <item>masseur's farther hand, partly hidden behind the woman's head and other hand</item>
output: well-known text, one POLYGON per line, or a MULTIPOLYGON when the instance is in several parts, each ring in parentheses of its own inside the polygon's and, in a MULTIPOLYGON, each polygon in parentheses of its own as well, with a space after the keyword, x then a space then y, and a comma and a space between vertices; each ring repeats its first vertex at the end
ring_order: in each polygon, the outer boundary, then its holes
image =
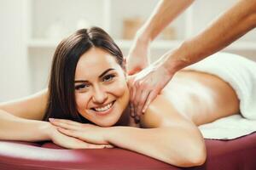
POLYGON ((136 38, 126 57, 128 75, 136 74, 148 66, 148 42, 136 38))

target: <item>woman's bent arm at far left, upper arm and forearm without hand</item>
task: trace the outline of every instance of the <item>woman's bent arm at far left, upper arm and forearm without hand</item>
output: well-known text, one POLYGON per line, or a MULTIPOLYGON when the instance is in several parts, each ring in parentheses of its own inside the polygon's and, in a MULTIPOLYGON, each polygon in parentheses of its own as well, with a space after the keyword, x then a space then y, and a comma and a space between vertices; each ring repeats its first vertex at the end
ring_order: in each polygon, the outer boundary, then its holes
POLYGON ((47 90, 0 104, 0 139, 49 140, 49 122, 44 117, 47 90), (30 120, 32 119, 32 120, 30 120))

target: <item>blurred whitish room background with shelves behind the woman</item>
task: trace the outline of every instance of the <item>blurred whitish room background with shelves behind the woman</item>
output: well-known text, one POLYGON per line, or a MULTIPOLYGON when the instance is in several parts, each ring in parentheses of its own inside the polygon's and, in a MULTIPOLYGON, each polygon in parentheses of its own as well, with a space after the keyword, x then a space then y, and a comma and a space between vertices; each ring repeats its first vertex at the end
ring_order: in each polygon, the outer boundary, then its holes
MULTIPOLYGON (((79 28, 101 26, 126 55, 135 32, 158 2, 0 0, 0 102, 46 88, 56 45, 79 28)), ((196 0, 157 37, 151 45, 151 60, 195 36, 234 3, 236 0, 196 0)), ((256 60, 256 30, 224 51, 256 60)))

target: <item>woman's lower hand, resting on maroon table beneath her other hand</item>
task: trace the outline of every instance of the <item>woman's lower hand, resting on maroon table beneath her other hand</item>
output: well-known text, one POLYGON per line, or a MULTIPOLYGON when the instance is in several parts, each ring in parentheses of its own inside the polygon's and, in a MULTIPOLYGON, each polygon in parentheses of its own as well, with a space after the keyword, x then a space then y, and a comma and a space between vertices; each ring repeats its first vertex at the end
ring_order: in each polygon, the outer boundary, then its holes
POLYGON ((67 149, 102 149, 113 147, 110 144, 90 144, 73 136, 68 136, 61 133, 53 123, 49 125, 49 138, 53 143, 67 149))

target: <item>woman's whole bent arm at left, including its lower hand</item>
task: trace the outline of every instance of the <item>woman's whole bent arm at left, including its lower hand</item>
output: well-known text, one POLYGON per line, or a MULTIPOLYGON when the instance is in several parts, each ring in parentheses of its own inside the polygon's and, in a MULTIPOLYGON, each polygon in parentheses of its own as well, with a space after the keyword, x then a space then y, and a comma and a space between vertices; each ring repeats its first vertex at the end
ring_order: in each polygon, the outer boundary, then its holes
POLYGON ((112 147, 110 144, 88 144, 68 137, 49 122, 41 121, 47 95, 47 90, 44 90, 25 99, 0 104, 0 139, 30 142, 52 140, 69 149, 112 147))

